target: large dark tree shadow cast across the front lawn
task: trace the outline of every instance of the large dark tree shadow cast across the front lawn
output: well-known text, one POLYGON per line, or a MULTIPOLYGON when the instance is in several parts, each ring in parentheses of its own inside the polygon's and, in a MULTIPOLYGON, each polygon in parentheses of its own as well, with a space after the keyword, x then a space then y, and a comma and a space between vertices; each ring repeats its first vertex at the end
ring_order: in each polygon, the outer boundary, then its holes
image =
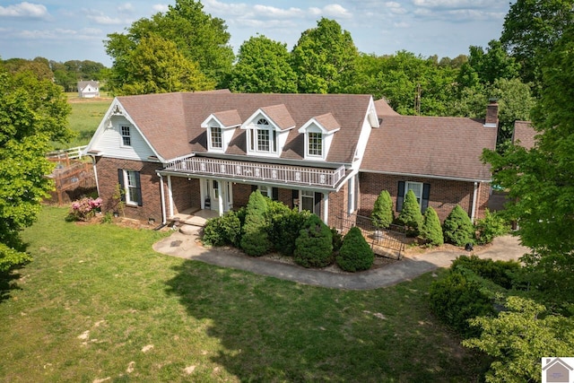
POLYGON ((431 276, 342 291, 183 261, 168 281, 241 381, 473 381, 480 362, 431 318, 431 276), (418 289, 418 290, 417 290, 418 289))

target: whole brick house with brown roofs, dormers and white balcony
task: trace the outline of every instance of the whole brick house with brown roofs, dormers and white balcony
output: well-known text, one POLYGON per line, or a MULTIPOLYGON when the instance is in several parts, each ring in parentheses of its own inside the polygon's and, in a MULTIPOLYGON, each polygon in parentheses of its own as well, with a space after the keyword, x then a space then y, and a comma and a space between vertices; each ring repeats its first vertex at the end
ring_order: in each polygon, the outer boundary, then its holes
POLYGON ((488 118, 486 124, 431 121, 399 116, 370 95, 125 96, 112 101, 85 152, 93 159, 104 209, 117 209, 119 187, 126 216, 145 221, 168 222, 196 209, 222 214, 247 205, 259 189, 336 226, 337 216, 358 213, 360 206, 369 213, 382 188, 397 202, 400 191, 417 182, 422 201, 440 213, 457 202, 480 216, 490 174, 478 156, 484 147, 494 148, 496 124, 488 118), (442 146, 422 152, 424 143, 442 146), (443 150, 453 145, 461 147, 443 150))

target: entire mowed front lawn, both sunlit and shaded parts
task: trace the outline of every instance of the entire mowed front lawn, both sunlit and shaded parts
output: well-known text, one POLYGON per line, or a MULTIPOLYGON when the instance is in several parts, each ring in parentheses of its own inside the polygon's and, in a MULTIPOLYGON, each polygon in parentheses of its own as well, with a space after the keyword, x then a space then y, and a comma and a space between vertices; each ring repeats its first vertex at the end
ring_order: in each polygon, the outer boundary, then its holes
POLYGON ((65 222, 23 232, 34 261, 3 283, 0 380, 477 381, 481 358, 431 316, 431 274, 369 292, 163 256, 169 235, 65 222))

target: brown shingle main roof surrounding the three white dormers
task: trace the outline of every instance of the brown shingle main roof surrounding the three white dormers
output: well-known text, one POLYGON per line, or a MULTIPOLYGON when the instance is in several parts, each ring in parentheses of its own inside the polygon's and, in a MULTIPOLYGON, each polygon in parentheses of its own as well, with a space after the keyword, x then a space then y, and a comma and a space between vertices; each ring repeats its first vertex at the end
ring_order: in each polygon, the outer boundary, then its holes
MULTIPOLYGON (((364 94, 248 94, 215 91, 123 96, 117 100, 153 148, 167 160, 192 152, 207 151, 206 132, 200 125, 211 114, 236 109, 245 122, 257 109, 283 104, 296 128, 289 131, 281 153, 282 159, 302 160, 303 135, 298 133, 297 127, 303 126, 310 118, 332 113, 341 129, 334 135, 326 160, 351 163, 371 97, 364 94)), ((245 130, 235 130, 228 154, 246 154, 245 135, 245 130)))

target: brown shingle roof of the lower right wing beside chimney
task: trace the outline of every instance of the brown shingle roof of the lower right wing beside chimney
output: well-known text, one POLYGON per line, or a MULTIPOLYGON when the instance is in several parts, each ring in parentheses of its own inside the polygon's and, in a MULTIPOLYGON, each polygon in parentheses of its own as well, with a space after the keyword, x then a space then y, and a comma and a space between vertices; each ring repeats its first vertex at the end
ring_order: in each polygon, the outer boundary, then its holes
POLYGON ((470 118, 387 116, 372 129, 361 170, 489 180, 480 160, 494 150, 497 129, 470 118))

